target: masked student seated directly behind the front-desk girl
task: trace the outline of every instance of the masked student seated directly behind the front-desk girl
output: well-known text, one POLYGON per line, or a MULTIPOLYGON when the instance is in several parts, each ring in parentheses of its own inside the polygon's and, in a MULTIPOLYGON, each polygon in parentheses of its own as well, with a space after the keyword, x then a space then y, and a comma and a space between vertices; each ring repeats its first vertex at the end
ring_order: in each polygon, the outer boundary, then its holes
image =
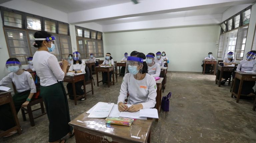
POLYGON ((146 56, 146 62, 148 65, 148 74, 153 77, 159 77, 161 73, 161 66, 154 61, 155 54, 148 53, 146 56))

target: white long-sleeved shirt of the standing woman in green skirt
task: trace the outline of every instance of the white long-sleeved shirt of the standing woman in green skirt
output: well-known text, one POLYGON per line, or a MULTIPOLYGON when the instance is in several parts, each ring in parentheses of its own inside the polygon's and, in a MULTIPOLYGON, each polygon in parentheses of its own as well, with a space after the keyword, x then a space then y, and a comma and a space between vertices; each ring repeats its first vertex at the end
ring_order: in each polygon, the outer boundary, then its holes
POLYGON ((58 81, 63 81, 65 74, 53 54, 47 51, 36 51, 32 62, 36 74, 40 78, 41 86, 50 86, 58 83, 58 81))

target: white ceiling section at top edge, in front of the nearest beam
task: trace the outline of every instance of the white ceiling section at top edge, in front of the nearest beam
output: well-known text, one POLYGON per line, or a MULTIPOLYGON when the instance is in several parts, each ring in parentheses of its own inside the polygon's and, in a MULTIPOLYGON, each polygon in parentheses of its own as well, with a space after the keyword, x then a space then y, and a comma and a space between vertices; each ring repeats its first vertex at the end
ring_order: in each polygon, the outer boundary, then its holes
MULTIPOLYGON (((32 0, 43 5, 58 9, 60 11, 71 13, 82 10, 88 10, 98 7, 105 7, 121 3, 128 3, 131 0, 32 0)), ((138 0, 139 1, 139 0, 138 0)))

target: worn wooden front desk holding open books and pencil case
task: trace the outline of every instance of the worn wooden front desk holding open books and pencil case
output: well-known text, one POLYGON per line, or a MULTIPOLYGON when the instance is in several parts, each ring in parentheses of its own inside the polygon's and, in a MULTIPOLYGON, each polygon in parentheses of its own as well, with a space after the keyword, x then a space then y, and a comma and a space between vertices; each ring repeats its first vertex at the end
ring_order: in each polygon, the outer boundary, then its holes
POLYGON ((105 118, 87 118, 82 113, 69 125, 74 127, 76 143, 149 143, 152 118, 135 120, 132 125, 106 124, 105 118), (83 121, 84 123, 78 122, 83 121), (132 137, 131 137, 132 136, 132 137))

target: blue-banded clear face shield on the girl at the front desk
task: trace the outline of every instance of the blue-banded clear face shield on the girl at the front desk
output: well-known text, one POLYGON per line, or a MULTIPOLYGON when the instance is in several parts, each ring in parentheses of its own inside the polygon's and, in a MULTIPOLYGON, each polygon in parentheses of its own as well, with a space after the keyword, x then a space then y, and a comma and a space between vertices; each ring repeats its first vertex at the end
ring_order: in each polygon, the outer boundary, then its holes
POLYGON ((143 59, 138 57, 127 57, 125 74, 131 73, 136 76, 138 73, 142 74, 143 59))

